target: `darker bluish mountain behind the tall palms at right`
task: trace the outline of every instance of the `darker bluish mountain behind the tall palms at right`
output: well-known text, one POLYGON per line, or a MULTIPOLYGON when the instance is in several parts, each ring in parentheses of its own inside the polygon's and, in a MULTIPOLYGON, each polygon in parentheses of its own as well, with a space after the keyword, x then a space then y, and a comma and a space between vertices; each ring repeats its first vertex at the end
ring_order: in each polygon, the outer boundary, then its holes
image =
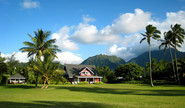
MULTIPOLYGON (((175 59, 175 49, 171 49, 173 58, 175 59)), ((177 58, 183 58, 185 57, 185 52, 176 52, 177 58)), ((157 61, 160 60, 166 60, 167 62, 171 62, 171 55, 170 55, 170 50, 166 50, 166 54, 164 54, 164 50, 156 50, 156 51, 151 51, 151 57, 157 59, 157 61)), ((149 52, 145 52, 141 55, 139 55, 136 58, 133 58, 129 60, 127 63, 137 63, 139 66, 145 67, 145 63, 149 62, 149 52)))

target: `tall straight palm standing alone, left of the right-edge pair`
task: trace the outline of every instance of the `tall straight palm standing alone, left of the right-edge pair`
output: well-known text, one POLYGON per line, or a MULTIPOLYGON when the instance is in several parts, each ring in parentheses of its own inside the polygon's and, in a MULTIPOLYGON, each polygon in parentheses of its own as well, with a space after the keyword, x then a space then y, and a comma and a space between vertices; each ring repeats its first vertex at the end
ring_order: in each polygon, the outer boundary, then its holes
POLYGON ((145 39, 147 39, 148 45, 149 45, 149 60, 150 60, 150 82, 151 82, 151 87, 153 87, 153 81, 152 81, 152 69, 151 69, 151 51, 150 51, 150 38, 152 37, 155 40, 159 40, 159 38, 161 37, 159 34, 161 34, 161 32, 159 30, 157 30, 156 27, 152 26, 152 25, 148 25, 146 26, 146 32, 145 34, 141 33, 144 38, 141 39, 140 43, 142 43, 145 39))

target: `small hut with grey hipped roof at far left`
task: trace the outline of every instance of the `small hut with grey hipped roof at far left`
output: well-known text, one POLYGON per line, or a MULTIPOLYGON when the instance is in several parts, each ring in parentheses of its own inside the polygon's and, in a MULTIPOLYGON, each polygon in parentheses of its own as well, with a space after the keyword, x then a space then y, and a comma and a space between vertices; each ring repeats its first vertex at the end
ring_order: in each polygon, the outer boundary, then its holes
POLYGON ((9 79, 10 84, 22 84, 25 83, 26 78, 19 73, 11 76, 9 79))

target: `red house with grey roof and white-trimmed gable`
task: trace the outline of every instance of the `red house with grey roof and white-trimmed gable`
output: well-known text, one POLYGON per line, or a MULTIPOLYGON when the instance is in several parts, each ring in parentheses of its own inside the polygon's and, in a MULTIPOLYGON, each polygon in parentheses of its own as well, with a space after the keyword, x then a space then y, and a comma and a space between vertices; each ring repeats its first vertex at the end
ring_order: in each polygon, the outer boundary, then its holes
POLYGON ((103 77, 100 76, 95 65, 75 65, 65 64, 65 77, 71 84, 77 84, 82 81, 87 81, 89 84, 101 81, 103 77))

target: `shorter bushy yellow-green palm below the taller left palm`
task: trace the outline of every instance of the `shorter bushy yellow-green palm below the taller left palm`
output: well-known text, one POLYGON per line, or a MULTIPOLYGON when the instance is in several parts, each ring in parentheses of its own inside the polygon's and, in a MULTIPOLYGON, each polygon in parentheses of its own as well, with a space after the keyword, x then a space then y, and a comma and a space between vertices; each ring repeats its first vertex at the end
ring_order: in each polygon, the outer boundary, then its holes
POLYGON ((44 85, 42 88, 47 88, 50 84, 51 78, 54 74, 59 70, 60 63, 54 63, 54 56, 50 54, 44 54, 44 60, 41 61, 37 59, 37 61, 33 64, 33 70, 40 73, 42 77, 44 77, 44 85), (45 86, 47 82, 47 85, 45 86))

